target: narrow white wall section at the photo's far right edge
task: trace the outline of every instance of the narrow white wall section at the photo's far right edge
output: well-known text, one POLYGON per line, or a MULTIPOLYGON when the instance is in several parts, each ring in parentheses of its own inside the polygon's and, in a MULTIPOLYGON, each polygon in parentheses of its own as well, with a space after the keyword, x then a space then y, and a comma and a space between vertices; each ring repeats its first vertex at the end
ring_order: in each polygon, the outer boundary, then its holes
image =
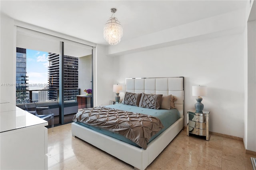
POLYGON ((256 4, 248 2, 246 7, 246 29, 244 31, 244 146, 256 152, 256 4))

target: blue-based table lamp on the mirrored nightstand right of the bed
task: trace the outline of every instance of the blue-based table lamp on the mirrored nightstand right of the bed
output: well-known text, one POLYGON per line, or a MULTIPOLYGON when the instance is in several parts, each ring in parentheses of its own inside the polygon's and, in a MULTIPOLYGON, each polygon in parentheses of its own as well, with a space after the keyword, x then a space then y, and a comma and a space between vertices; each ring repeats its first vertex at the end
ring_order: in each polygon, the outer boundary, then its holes
POLYGON ((203 100, 201 96, 206 96, 206 86, 192 86, 192 96, 197 96, 195 104, 196 113, 202 113, 204 104, 201 103, 203 100))

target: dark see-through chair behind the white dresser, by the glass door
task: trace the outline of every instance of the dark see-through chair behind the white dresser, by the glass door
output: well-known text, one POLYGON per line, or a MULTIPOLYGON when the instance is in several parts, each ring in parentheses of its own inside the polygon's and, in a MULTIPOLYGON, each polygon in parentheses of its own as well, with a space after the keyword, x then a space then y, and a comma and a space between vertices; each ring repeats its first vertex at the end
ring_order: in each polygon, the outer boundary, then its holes
POLYGON ((52 131, 54 126, 54 114, 50 111, 48 106, 38 107, 35 102, 30 99, 24 99, 24 108, 27 112, 34 114, 35 116, 44 119, 46 121, 51 120, 52 131))

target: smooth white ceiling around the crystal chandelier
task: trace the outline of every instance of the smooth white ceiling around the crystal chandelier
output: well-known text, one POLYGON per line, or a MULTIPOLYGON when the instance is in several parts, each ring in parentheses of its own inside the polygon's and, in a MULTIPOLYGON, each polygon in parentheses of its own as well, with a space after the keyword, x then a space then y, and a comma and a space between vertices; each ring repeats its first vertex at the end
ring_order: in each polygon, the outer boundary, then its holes
POLYGON ((1 0, 1 13, 96 44, 107 44, 103 27, 117 8, 122 40, 245 8, 246 0, 1 0))

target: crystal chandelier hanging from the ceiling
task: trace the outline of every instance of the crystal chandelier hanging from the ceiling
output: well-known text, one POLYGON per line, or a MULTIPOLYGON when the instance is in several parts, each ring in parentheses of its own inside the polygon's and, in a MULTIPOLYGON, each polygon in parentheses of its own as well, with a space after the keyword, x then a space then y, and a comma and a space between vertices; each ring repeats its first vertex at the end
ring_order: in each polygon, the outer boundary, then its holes
POLYGON ((112 16, 104 26, 103 35, 108 44, 116 45, 120 42, 123 36, 123 28, 117 18, 113 17, 113 14, 116 12, 116 8, 111 8, 110 10, 112 12, 112 16))

